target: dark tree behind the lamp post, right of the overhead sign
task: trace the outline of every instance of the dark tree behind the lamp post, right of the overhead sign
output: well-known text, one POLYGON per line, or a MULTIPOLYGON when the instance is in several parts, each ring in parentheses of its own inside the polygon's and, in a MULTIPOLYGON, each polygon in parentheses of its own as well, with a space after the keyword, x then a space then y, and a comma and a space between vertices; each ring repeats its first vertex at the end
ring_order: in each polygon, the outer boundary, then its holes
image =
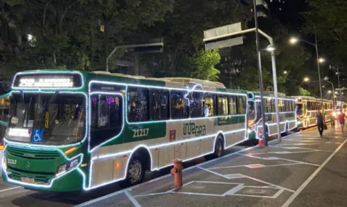
MULTIPOLYGON (((310 53, 307 53, 301 46, 288 44, 289 32, 279 21, 262 18, 259 19, 259 24, 264 33, 273 37, 276 45, 278 91, 287 94, 298 93, 298 87, 294 86, 300 84, 305 73, 310 71, 310 68, 305 67, 307 61, 310 60, 310 53)), ((239 75, 232 77, 232 83, 233 87, 239 86, 242 89, 258 91, 259 79, 255 34, 250 33, 245 37, 244 44, 233 47, 230 53, 232 60, 242 60, 242 71, 239 75)), ((260 35, 260 48, 266 48, 268 45, 269 41, 260 35)), ((273 89, 271 55, 267 51, 261 51, 261 58, 264 91, 269 91, 273 89)))

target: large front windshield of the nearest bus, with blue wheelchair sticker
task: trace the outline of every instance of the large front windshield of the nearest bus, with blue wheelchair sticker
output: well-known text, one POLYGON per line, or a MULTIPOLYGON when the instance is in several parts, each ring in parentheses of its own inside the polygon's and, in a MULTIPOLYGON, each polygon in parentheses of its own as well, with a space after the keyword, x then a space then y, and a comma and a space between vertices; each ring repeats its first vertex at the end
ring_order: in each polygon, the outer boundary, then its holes
POLYGON ((61 93, 12 93, 6 138, 51 145, 80 141, 85 136, 83 97, 61 93), (32 138, 33 129, 40 129, 42 139, 32 138))

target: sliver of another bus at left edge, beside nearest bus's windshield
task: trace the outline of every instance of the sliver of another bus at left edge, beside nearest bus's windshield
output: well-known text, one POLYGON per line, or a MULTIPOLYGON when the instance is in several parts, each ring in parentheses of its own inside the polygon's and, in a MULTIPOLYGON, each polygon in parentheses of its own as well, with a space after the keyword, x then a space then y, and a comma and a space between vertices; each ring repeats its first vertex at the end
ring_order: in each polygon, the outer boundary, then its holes
POLYGON ((10 93, 0 96, 0 150, 3 149, 3 136, 8 125, 8 111, 10 109, 10 93))

